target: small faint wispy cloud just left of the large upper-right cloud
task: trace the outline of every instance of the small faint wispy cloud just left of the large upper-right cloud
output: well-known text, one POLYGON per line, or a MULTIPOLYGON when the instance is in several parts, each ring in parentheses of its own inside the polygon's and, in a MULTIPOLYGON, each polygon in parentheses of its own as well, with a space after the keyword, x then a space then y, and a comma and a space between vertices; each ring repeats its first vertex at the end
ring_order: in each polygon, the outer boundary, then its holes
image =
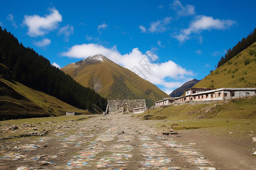
POLYGON ((167 31, 166 26, 170 24, 172 17, 166 17, 163 20, 157 20, 156 22, 150 23, 150 28, 148 29, 149 32, 165 32, 167 31))

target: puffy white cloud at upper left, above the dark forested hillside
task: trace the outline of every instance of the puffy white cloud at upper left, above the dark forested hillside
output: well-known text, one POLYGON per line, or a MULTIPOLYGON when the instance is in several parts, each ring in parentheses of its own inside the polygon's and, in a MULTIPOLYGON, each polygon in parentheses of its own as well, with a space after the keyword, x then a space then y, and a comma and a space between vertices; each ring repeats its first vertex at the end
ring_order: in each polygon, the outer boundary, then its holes
POLYGON ((28 27, 28 35, 31 37, 46 35, 49 31, 57 28, 57 24, 62 22, 62 16, 55 8, 49 8, 51 14, 43 16, 25 15, 23 24, 28 27))

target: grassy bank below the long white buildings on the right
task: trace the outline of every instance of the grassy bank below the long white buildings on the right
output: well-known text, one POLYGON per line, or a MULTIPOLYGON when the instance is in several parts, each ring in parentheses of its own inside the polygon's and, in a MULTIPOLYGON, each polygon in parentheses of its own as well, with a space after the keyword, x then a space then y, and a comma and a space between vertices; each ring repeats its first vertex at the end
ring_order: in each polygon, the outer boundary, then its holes
MULTIPOLYGON (((173 129, 197 129, 213 126, 229 126, 256 121, 256 96, 200 105, 172 105, 166 108, 151 109, 152 116, 144 119, 164 120, 159 126, 173 129), (228 122, 232 122, 229 123, 228 122), (234 125, 234 124, 233 124, 234 125)), ((138 114, 146 116, 148 111, 138 114)), ((255 127, 254 127, 255 129, 255 127)))

